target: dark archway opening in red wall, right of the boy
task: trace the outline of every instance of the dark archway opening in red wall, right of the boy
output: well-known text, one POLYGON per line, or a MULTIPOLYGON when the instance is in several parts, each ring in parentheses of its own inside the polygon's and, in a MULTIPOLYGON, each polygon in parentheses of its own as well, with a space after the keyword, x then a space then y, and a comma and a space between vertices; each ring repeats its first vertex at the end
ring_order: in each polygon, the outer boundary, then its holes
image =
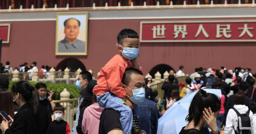
MULTIPOLYGON (((156 72, 159 71, 159 73, 161 74, 161 78, 164 78, 164 73, 165 73, 165 71, 168 71, 168 72, 169 72, 170 70, 174 70, 174 69, 173 69, 171 66, 169 66, 169 65, 166 65, 166 64, 159 64, 159 65, 154 66, 154 67, 149 71, 149 74, 150 74, 153 78, 155 78, 156 72)), ((175 70, 174 70, 174 73, 176 73, 175 70)))

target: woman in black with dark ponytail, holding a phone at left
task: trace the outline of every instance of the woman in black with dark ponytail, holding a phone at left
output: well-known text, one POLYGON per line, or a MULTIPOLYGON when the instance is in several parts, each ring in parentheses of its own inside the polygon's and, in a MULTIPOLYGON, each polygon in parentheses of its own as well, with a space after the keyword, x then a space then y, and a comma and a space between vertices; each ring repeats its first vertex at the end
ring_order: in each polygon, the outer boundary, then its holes
POLYGON ((39 116, 37 113, 39 95, 36 88, 27 81, 19 81, 12 87, 12 93, 13 100, 17 102, 20 109, 14 116, 14 120, 3 121, 0 129, 5 134, 39 134, 39 116))

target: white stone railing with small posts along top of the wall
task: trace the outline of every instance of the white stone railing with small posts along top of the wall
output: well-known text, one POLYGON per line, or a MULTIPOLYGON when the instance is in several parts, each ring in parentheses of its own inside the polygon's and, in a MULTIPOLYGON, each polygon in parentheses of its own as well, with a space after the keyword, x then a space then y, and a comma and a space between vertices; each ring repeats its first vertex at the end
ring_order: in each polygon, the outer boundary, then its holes
POLYGON ((247 4, 241 4, 241 0, 238 0, 238 3, 236 4, 227 4, 227 0, 224 1, 224 4, 214 4, 213 0, 209 4, 200 4, 199 0, 197 0, 197 4, 194 5, 187 5, 186 1, 184 0, 183 5, 173 5, 173 2, 170 1, 170 5, 159 5, 159 1, 156 5, 150 5, 148 6, 146 2, 144 2, 143 6, 133 6, 133 2, 131 2, 130 6, 121 6, 120 2, 118 2, 118 6, 108 6, 108 3, 106 2, 104 7, 96 7, 95 3, 93 3, 92 7, 69 7, 69 4, 66 5, 66 7, 58 8, 57 4, 55 4, 54 8, 46 8, 44 5, 42 8, 34 8, 34 5, 31 6, 29 9, 23 9, 22 5, 19 9, 12 9, 11 6, 9 6, 8 9, 1 9, 0 12, 13 12, 13 11, 49 11, 49 10, 69 10, 69 9, 143 9, 143 8, 201 8, 201 7, 255 7, 255 0, 252 1, 252 3, 247 4))

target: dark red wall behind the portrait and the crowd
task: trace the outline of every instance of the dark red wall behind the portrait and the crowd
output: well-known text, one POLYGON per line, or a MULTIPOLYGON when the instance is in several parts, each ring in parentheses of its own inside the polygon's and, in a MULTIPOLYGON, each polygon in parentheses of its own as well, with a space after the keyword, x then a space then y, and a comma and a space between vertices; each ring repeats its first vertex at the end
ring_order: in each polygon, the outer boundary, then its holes
MULTIPOLYGON (((96 76, 100 68, 118 53, 118 32, 131 28, 139 34, 140 21, 152 20, 89 20, 87 56, 55 56, 55 21, 1 22, 11 23, 10 43, 3 44, 1 62, 5 65, 10 61, 12 67, 18 67, 24 62, 36 61, 38 68, 41 65, 56 67, 63 59, 75 57, 96 76)), ((185 74, 194 72, 195 67, 221 66, 227 69, 249 67, 254 73, 255 50, 255 42, 140 43, 138 63, 145 75, 158 64, 167 64, 175 71, 183 65, 185 74)))

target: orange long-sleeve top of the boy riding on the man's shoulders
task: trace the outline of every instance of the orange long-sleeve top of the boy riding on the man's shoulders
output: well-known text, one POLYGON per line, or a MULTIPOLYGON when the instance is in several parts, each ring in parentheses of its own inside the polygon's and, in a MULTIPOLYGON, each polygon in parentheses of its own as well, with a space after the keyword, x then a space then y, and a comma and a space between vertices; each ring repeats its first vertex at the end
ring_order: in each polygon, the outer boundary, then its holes
MULTIPOLYGON (((115 55, 101 68, 100 75, 97 77, 97 85, 92 91, 93 94, 98 96, 110 91, 118 98, 125 97, 126 93, 121 81, 126 68, 134 68, 132 62, 126 61, 121 55, 115 55)), ((142 72, 141 67, 136 69, 142 72)))

